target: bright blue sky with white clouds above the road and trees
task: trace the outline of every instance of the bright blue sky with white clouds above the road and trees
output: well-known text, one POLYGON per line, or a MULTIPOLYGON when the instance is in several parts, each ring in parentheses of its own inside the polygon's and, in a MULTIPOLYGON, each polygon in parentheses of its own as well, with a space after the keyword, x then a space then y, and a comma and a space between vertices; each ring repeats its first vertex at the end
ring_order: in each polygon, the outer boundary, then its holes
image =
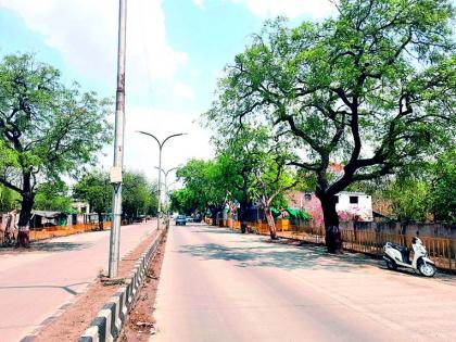
MULTIPOLYGON (((164 145, 165 170, 212 157, 211 132, 199 117, 214 100, 224 66, 265 20, 284 15, 297 25, 332 11, 329 0, 129 0, 125 167, 156 178, 157 144, 137 130, 160 140, 188 134, 164 145)), ((64 83, 114 99, 117 21, 116 0, 0 0, 0 56, 33 52, 60 68, 64 83)), ((112 150, 100 152, 105 170, 112 150)))

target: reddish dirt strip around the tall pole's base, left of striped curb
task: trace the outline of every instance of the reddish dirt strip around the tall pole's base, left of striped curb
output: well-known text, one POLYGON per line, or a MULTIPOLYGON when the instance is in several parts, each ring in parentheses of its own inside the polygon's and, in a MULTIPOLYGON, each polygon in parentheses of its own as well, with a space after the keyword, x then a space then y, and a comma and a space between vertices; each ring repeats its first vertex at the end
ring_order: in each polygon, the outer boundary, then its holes
MULTIPOLYGON (((157 231, 148 236, 135 250, 128 253, 119 263, 119 278, 127 277, 135 267, 136 261, 152 243, 157 231)), ((51 319, 43 327, 34 342, 77 341, 84 333, 103 305, 114 295, 122 284, 106 284, 101 278, 94 280, 88 290, 78 295, 74 303, 63 307, 63 313, 51 319)))

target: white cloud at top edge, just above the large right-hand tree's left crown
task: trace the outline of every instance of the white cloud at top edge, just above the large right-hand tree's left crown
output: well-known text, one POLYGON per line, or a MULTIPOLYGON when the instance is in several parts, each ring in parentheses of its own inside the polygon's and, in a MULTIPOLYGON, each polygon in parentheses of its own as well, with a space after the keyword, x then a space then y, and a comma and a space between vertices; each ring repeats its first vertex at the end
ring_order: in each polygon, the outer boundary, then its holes
MULTIPOLYGON (((206 0, 207 1, 207 0, 206 0)), ((243 3, 255 15, 266 18, 284 15, 295 18, 303 14, 319 20, 334 13, 334 7, 329 0, 225 0, 243 3)), ((193 0, 200 8, 204 0, 193 0)))

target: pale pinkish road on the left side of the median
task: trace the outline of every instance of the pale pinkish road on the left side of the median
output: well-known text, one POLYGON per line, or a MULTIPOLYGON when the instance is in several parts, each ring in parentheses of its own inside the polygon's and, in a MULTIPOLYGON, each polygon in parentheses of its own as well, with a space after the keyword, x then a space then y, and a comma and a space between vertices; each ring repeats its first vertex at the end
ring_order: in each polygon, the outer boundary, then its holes
MULTIPOLYGON (((155 227, 122 227, 121 257, 155 227)), ((109 231, 35 242, 30 251, 0 250, 0 342, 20 341, 107 273, 109 231)))

